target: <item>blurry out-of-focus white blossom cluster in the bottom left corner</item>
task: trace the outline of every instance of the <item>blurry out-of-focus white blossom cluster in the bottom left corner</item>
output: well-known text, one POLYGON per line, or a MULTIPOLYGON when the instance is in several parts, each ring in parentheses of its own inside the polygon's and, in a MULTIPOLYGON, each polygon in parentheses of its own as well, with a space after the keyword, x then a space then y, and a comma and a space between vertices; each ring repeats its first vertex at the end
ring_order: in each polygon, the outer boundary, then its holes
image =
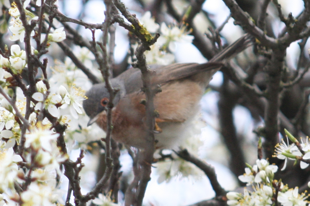
POLYGON ((60 174, 60 163, 67 157, 63 156, 56 146, 58 136, 59 134, 38 123, 25 135, 25 148, 31 149, 24 151, 24 158, 15 154, 13 148, 8 147, 8 144, 4 143, 5 141, 0 141, 1 145, 5 146, 0 149, 0 193, 7 196, 6 202, 13 200, 22 202, 23 205, 52 206, 56 201, 59 201, 61 193, 56 187, 54 171, 60 174), (25 164, 25 162, 31 164, 33 169, 21 169, 19 164, 25 164), (24 184, 26 179, 31 179, 31 183, 27 190, 23 191, 16 199, 16 184, 24 184))

